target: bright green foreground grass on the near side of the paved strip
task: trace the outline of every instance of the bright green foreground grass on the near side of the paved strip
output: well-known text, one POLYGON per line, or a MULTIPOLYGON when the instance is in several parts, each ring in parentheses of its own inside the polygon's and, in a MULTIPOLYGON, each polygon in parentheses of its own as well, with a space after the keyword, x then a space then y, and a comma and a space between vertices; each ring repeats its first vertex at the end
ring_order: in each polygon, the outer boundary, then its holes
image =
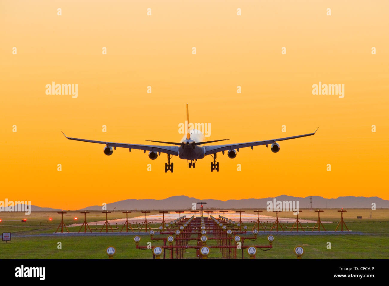
MULTIPOLYGON (((388 258, 389 238, 386 235, 277 235, 273 249, 261 251, 257 258, 296 258, 293 249, 301 245, 305 249, 303 258, 388 258), (327 249, 331 242, 331 249, 327 249)), ((158 236, 156 236, 158 237, 158 236)), ((140 245, 146 246, 151 241, 149 236, 142 236, 140 245)), ((215 245, 215 241, 208 241, 215 245)), ((256 242, 245 240, 244 245, 268 245, 266 235, 258 235, 256 242)), ((162 242, 152 242, 161 246, 162 242)), ((195 245, 192 241, 189 245, 195 245)), ((116 248, 114 258, 152 258, 151 250, 135 249, 133 236, 98 236, 98 237, 15 237, 11 242, 3 242, 0 253, 6 258, 107 258, 105 249, 116 248), (61 242, 62 249, 57 249, 61 242)), ((240 252, 241 253, 241 252, 240 252)), ((241 254, 240 254, 241 255, 241 254)), ((245 258, 248 258, 244 251, 245 258)), ((241 256, 238 256, 241 257, 241 256)), ((196 250, 189 249, 184 258, 196 258, 196 250)), ((221 258, 219 250, 211 249, 209 258, 221 258)))

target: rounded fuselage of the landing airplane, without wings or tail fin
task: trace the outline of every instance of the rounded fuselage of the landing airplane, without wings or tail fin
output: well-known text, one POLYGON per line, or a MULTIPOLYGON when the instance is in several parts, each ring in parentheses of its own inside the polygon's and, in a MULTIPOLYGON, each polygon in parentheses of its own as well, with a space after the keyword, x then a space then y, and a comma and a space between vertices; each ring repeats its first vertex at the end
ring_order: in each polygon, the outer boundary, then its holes
POLYGON ((184 146, 178 148, 178 156, 184 160, 197 160, 203 159, 205 156, 205 147, 203 145, 192 146, 193 142, 203 142, 205 136, 199 130, 191 130, 190 138, 186 139, 186 135, 181 139, 180 143, 184 143, 184 146))

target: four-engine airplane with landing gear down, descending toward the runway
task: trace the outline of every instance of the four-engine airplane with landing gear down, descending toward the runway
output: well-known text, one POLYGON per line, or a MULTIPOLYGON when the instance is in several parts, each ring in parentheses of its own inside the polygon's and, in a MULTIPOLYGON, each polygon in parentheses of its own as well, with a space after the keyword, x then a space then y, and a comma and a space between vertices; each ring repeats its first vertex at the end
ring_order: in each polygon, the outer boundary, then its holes
MULTIPOLYGON (((186 104, 186 121, 189 124, 188 104, 186 104)), ((172 156, 178 156, 180 159, 187 160, 189 163, 189 168, 191 167, 195 168, 196 166, 195 162, 197 162, 197 160, 203 159, 205 156, 210 155, 214 159, 214 161, 211 162, 211 172, 213 172, 214 170, 216 170, 216 172, 219 172, 219 162, 216 162, 216 154, 219 152, 222 152, 224 155, 224 151, 228 151, 227 152, 228 157, 233 159, 237 156, 237 152, 239 152, 240 148, 251 147, 251 149, 253 149, 254 146, 266 145, 266 147, 268 147, 268 145, 271 145, 270 150, 272 150, 273 153, 277 153, 280 151, 280 145, 277 142, 300 138, 300 137, 312 136, 315 135, 317 129, 319 128, 317 128, 314 133, 308 133, 303 135, 296 135, 291 137, 284 137, 284 138, 263 140, 263 141, 224 144, 224 145, 207 145, 207 144, 230 140, 230 139, 204 141, 205 136, 202 132, 200 132, 200 130, 195 130, 195 129, 189 130, 189 129, 190 128, 188 128, 186 134, 180 140, 180 142, 146 140, 149 142, 169 144, 171 146, 141 145, 141 144, 116 143, 116 142, 108 142, 108 141, 96 141, 96 140, 67 137, 63 132, 62 134, 68 140, 105 144, 104 154, 107 156, 112 155, 112 153, 114 153, 114 150, 116 150, 117 147, 128 148, 130 152, 131 149, 143 150, 144 153, 146 153, 146 151, 149 151, 149 158, 151 160, 155 160, 159 155, 161 155, 161 153, 165 153, 167 154, 168 157, 168 162, 165 163, 165 173, 167 173, 168 171, 173 173, 174 166, 173 163, 170 163, 170 159, 172 158, 172 156)))

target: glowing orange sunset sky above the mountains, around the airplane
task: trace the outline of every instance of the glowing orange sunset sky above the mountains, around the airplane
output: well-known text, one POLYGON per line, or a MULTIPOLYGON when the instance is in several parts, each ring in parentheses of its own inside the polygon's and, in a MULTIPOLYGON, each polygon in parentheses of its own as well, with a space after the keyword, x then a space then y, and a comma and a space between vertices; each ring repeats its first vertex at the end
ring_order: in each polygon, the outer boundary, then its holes
POLYGON ((388 6, 2 1, 0 200, 64 209, 173 195, 388 200, 388 6), (46 95, 52 81, 78 84, 78 97, 46 95), (345 97, 312 95, 319 81, 344 84, 345 97), (186 103, 192 122, 210 123, 208 140, 238 143, 320 129, 280 142, 277 154, 265 146, 241 149, 233 160, 220 153, 218 173, 210 172, 209 156, 195 169, 175 157, 173 174, 164 172, 165 155, 151 161, 142 151, 117 149, 105 156, 102 145, 61 134, 134 144, 179 141, 186 103))

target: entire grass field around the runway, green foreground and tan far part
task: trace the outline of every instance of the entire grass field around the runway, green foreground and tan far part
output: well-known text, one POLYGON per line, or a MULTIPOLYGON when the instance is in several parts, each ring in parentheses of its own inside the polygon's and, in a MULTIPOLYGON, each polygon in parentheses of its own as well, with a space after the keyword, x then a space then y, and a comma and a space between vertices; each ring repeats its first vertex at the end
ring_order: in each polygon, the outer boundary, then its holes
MULTIPOLYGON (((252 210, 246 210, 252 212, 252 210)), ((156 214, 158 211, 152 211, 156 214)), ((266 215, 272 215, 264 210, 266 215)), ((104 235, 104 236, 58 236, 58 237, 25 237, 26 235, 37 235, 42 233, 53 233, 60 223, 60 215, 56 212, 32 212, 31 215, 25 216, 20 213, 0 213, 2 222, 0 223, 1 232, 11 232, 11 242, 0 242, 1 258, 107 258, 105 249, 107 246, 116 248, 115 258, 152 258, 150 250, 135 249, 133 235, 104 235), (21 223, 21 219, 27 218, 26 223, 21 223), (49 218, 53 218, 49 221, 49 218), (20 237, 23 236, 23 237, 20 237), (58 242, 61 242, 62 249, 58 249, 58 242)), ((140 216, 141 213, 134 212, 129 217, 140 216)), ((227 216, 227 214, 226 214, 227 216)), ((74 217, 78 222, 83 221, 83 215, 79 212, 69 211, 64 215, 65 224, 74 223, 74 217)), ((227 216, 228 217, 228 216, 227 216)), ((283 227, 293 225, 293 214, 284 212, 282 217, 291 218, 290 223, 283 223, 283 227)), ((125 218, 125 214, 120 211, 112 212, 109 219, 125 218)), ((299 215, 300 219, 316 219, 317 213, 309 210, 303 210, 299 215)), ((326 230, 335 230, 339 221, 340 213, 335 209, 326 209, 321 213, 323 221, 332 221, 325 223, 326 230)), ((87 221, 91 228, 95 228, 93 221, 104 220, 105 215, 101 212, 91 211, 87 216, 87 221)), ((295 258, 293 249, 301 245, 305 249, 303 258, 389 258, 389 210, 378 209, 349 209, 344 213, 344 220, 347 226, 353 232, 363 232, 360 234, 340 234, 340 235, 281 235, 272 232, 275 237, 273 249, 270 251, 258 250, 257 258, 295 258), (371 218, 370 218, 371 214, 371 218), (362 216, 363 219, 357 219, 356 216, 362 216), (328 242, 331 243, 331 249, 327 248, 328 242)), ((139 223, 142 223, 140 220, 139 223)), ((266 224, 266 223, 265 223, 266 224)), ((253 223, 248 223, 249 229, 253 223)), ((271 226, 271 223, 267 224, 271 226)), ((302 223, 304 227, 312 228, 312 223, 302 223)), ((151 224, 152 228, 157 228, 157 224, 151 224)), ((114 225, 112 226, 114 227, 114 225)), ((140 227, 140 225, 138 226, 140 227)), ((250 228, 251 227, 251 228, 250 228)), ((101 228, 101 225, 98 226, 101 228)), ((121 228, 121 225, 120 225, 121 228)), ((120 231, 119 228, 119 231, 120 231)), ((70 232, 78 232, 79 227, 69 228, 70 232)), ((115 230, 117 232, 118 230, 115 230)), ((288 230, 290 231, 290 229, 288 230)), ((311 231, 311 230, 307 230, 311 231)), ((96 232, 96 231, 94 231, 96 232)), ((252 234, 251 234, 252 235, 252 234)), ((267 234, 259 234, 257 240, 245 241, 245 245, 267 245, 267 234)), ((154 235, 154 238, 165 237, 165 235, 154 235)), ((151 241, 149 235, 141 236, 140 245, 145 246, 151 241)), ((153 246, 161 245, 162 242, 152 242, 153 246)), ((192 241, 189 245, 195 245, 192 241)), ((215 242, 209 240, 208 245, 215 242)), ((245 253, 245 252, 244 252, 245 253)), ((241 255, 241 254, 240 254, 241 255)), ((245 258, 248 255, 244 254, 245 258)), ((241 257, 241 256, 239 256, 241 257)), ((196 251, 189 249, 184 254, 184 258, 196 258, 196 251)), ((209 258, 221 258, 219 250, 212 249, 209 258)))

